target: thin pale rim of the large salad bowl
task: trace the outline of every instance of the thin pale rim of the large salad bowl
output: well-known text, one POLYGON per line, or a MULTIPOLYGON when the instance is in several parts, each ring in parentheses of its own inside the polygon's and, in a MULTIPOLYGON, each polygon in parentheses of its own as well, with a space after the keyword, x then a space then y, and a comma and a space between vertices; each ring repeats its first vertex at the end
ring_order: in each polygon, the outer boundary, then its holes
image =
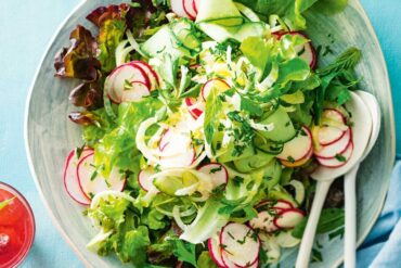
MULTIPOLYGON (((40 69, 43 65, 43 62, 53 44, 53 42, 56 40, 56 37, 59 36, 60 31, 63 29, 63 27, 68 23, 68 21, 74 16, 74 14, 79 10, 81 9, 85 3, 87 2, 87 0, 81 0, 81 2, 79 2, 73 10, 72 12, 64 18, 64 21, 60 24, 60 26, 56 28, 56 30, 54 31, 54 35, 52 36, 52 38, 50 39, 48 46, 47 46, 47 49, 44 50, 44 53, 43 55, 41 56, 41 60, 39 62, 39 65, 37 67, 37 71, 35 73, 35 76, 34 76, 34 79, 30 84, 30 87, 29 87, 29 91, 28 91, 28 94, 27 94, 27 98, 26 98, 26 102, 25 102, 25 115, 24 115, 24 143, 25 143, 25 151, 26 151, 26 156, 27 156, 27 161, 28 161, 28 166, 29 166, 29 170, 30 170, 30 174, 31 174, 31 177, 34 178, 34 182, 35 182, 35 186, 38 190, 38 193, 39 193, 39 196, 46 207, 46 209, 48 210, 48 215, 50 216, 52 222, 53 222, 53 226, 57 229, 57 231, 60 232, 60 234, 62 235, 62 238, 67 242, 67 244, 69 245, 69 247, 73 250, 73 252, 76 254, 76 256, 78 256, 78 258, 82 261, 82 264, 86 266, 86 267, 93 267, 89 260, 83 256, 83 254, 78 250, 78 247, 76 247, 76 245, 74 244, 74 242, 70 240, 70 238, 68 237, 68 234, 63 230, 63 228, 61 227, 60 222, 57 221, 57 219, 55 218, 54 214, 53 214, 53 210, 50 208, 49 204, 48 204, 48 201, 44 196, 44 193, 42 192, 42 189, 40 187, 40 183, 39 183, 39 179, 38 179, 38 176, 36 174, 36 170, 35 170, 35 166, 34 166, 34 162, 33 162, 33 158, 31 158, 31 153, 30 153, 30 148, 29 148, 29 139, 28 139, 28 125, 29 125, 29 109, 30 109, 30 101, 31 101, 31 95, 33 95, 33 92, 34 92, 34 88, 35 88, 35 85, 36 85, 36 81, 38 79, 38 76, 39 76, 39 73, 40 73, 40 69)), ((391 93, 391 86, 390 86, 390 78, 389 78, 389 74, 388 74, 388 68, 387 68, 387 64, 386 64, 386 61, 385 61, 385 56, 384 56, 384 53, 383 53, 383 49, 381 49, 381 46, 378 41, 378 38, 377 38, 377 35, 376 35, 376 31, 374 30, 374 27, 372 25, 372 22, 370 20, 370 17, 367 16, 363 5, 361 4, 360 0, 351 0, 349 2, 349 4, 354 4, 354 7, 357 9, 359 9, 361 11, 361 16, 363 17, 363 20, 365 21, 366 23, 366 26, 367 26, 367 31, 371 34, 371 37, 372 37, 372 40, 373 42, 375 43, 375 46, 378 47, 379 49, 379 58, 380 58, 380 64, 384 66, 384 72, 385 72, 385 79, 384 79, 384 82, 386 84, 386 88, 389 89, 389 103, 390 105, 388 106, 389 107, 389 117, 388 118, 390 120, 390 130, 391 130, 391 155, 393 156, 393 161, 391 161, 391 163, 389 163, 389 165, 393 166, 393 162, 394 162, 394 156, 396 156, 396 140, 394 140, 394 135, 396 135, 396 125, 394 125, 394 114, 393 114, 393 102, 392 102, 392 93, 391 93)), ((389 170, 388 174, 386 174, 386 176, 390 176, 391 174, 391 170, 389 170)), ((379 206, 378 206, 378 209, 376 210, 375 215, 374 215, 374 219, 371 221, 371 224, 368 225, 368 227, 366 228, 365 232, 362 233, 362 235, 360 237, 360 239, 357 241, 357 247, 359 247, 363 241, 366 239, 367 234, 372 231, 372 228, 373 226, 376 224, 381 210, 383 210, 383 207, 384 207, 384 204, 385 204, 385 201, 386 201, 386 196, 387 194, 384 194, 383 197, 380 199, 379 201, 379 206)), ((341 263, 344 261, 344 254, 338 258, 338 260, 334 261, 332 268, 336 268, 338 266, 341 265, 341 263)))

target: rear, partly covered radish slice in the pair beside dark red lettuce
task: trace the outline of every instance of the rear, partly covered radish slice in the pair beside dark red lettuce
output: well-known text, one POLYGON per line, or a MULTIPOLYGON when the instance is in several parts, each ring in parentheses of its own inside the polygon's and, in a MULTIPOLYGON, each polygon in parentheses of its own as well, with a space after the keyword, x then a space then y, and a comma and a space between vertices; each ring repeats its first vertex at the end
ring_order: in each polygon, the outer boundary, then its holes
POLYGON ((106 77, 104 90, 113 102, 120 103, 127 84, 142 82, 150 87, 150 79, 143 68, 135 63, 126 63, 115 68, 106 77))

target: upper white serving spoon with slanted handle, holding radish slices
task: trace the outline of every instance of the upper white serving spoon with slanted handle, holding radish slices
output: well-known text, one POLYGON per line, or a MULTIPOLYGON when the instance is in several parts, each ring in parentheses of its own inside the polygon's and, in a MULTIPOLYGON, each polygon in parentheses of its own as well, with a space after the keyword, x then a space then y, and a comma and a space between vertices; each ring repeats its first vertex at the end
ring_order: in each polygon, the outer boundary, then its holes
POLYGON ((350 93, 351 101, 349 101, 346 106, 352 115, 353 153, 346 165, 339 168, 319 166, 319 168, 311 175, 311 177, 318 181, 318 184, 312 208, 309 214, 308 224, 299 247, 298 258, 295 266, 296 268, 309 267, 314 235, 328 188, 336 178, 347 174, 355 164, 360 162, 370 139, 370 133, 372 131, 372 119, 370 118, 371 114, 362 99, 357 95, 357 93, 350 93))

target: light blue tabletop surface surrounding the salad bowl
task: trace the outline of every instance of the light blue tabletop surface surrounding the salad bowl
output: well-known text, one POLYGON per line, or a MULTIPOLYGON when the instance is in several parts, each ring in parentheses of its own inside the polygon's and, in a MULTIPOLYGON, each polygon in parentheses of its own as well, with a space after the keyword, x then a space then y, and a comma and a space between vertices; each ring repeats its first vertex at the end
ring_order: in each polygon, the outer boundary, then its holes
MULTIPOLYGON (((23 117, 25 99, 35 71, 50 38, 79 0, 0 0, 0 180, 13 184, 27 196, 37 220, 33 251, 23 267, 82 267, 52 226, 30 177, 25 156, 23 117)), ((398 153, 401 153, 401 2, 362 0, 380 39, 389 67, 396 117, 398 153)), ((361 29, 363 30, 363 29, 361 29)), ((401 207, 401 166, 394 171, 383 220, 360 251, 360 267, 373 261, 396 226, 401 207), (370 247, 371 246, 371 247, 370 247)), ((399 267, 401 225, 385 244, 375 267, 399 267), (398 237, 397 237, 398 230, 398 237), (398 245, 398 247, 396 246, 398 245), (388 250, 398 248, 397 252, 388 250), (398 260, 398 263, 384 263, 398 260), (397 265, 396 265, 397 264, 397 265), (376 266, 377 265, 377 266, 376 266)))

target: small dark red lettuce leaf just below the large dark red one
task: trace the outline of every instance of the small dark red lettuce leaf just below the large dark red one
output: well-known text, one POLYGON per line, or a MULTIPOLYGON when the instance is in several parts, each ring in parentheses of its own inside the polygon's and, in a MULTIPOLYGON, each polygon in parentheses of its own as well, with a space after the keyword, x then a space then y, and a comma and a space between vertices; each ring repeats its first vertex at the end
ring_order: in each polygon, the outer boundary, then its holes
POLYGON ((82 82, 73 89, 69 100, 75 106, 94 110, 103 105, 103 93, 98 81, 82 82))

